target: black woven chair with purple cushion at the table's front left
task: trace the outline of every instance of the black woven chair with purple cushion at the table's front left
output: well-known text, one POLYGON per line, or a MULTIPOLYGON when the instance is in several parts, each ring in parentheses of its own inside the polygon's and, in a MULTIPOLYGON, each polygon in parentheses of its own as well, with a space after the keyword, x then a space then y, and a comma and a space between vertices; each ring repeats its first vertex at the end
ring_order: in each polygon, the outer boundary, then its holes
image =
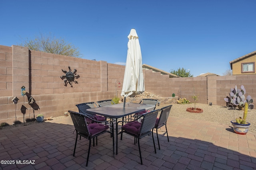
MULTIPOLYGON (((78 135, 80 135, 80 137, 82 136, 85 139, 89 140, 88 155, 87 155, 87 160, 86 160, 86 166, 88 166, 88 160, 89 160, 90 148, 91 148, 91 139, 93 139, 93 144, 94 144, 94 138, 96 137, 96 141, 97 141, 97 137, 99 135, 102 135, 104 133, 110 133, 111 136, 114 136, 113 122, 112 121, 96 121, 96 120, 92 119, 92 121, 94 121, 94 123, 88 124, 86 122, 86 119, 91 119, 91 118, 88 117, 87 115, 78 113, 75 111, 70 111, 70 110, 68 112, 70 113, 70 116, 74 123, 75 131, 76 131, 76 143, 77 143, 78 135), (110 126, 104 125, 101 123, 109 123, 110 126)), ((113 141, 113 155, 114 155, 114 137, 112 137, 112 141, 113 141)), ((75 147, 74 147, 73 156, 75 156, 75 152, 76 152, 76 143, 75 143, 75 147)), ((97 145, 97 142, 96 142, 96 145, 97 145)))

